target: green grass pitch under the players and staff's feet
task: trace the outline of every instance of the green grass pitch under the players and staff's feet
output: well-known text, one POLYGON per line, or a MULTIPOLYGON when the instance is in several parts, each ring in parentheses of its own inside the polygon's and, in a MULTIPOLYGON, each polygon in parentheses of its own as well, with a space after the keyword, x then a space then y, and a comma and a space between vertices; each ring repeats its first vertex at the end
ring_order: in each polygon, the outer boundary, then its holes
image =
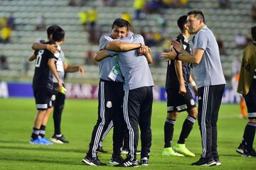
MULTIPOLYGON (((0 99, 0 169, 119 169, 87 166, 81 163, 97 118, 97 101, 67 100, 63 113, 62 132, 70 140, 67 145, 30 145, 28 140, 33 128, 36 106, 33 99, 0 99)), ((174 130, 174 142, 178 140, 186 113, 180 113, 174 130)), ((242 138, 247 120, 240 118, 237 105, 222 105, 218 120, 218 152, 221 166, 191 166, 201 155, 201 137, 197 122, 186 140, 186 146, 196 154, 195 158, 162 157, 164 146, 164 121, 166 103, 154 103, 152 114, 152 147, 149 166, 137 169, 255 169, 255 158, 240 157, 235 152, 242 138)), ((53 135, 53 118, 50 116, 46 137, 53 135)), ((107 163, 112 152, 112 132, 103 143, 109 153, 100 154, 107 163)))

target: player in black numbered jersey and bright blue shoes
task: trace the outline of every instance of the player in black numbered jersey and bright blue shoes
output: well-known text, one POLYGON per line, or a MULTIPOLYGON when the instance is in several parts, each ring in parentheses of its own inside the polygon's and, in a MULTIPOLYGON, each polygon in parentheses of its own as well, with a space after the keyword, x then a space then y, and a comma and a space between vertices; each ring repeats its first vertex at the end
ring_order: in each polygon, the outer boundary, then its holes
MULTIPOLYGON (((60 51, 60 45, 63 44, 65 38, 65 32, 62 28, 56 28, 52 33, 52 40, 46 42, 46 44, 56 44, 58 51, 60 51)), ((58 82, 58 91, 63 89, 60 77, 58 76, 55 63, 58 61, 60 52, 55 54, 48 50, 36 50, 36 69, 33 76, 33 93, 36 98, 36 108, 38 109, 38 115, 36 116, 33 132, 31 135, 31 144, 50 145, 51 143, 44 137, 39 138, 38 135, 41 131, 45 131, 45 127, 41 127, 44 121, 48 118, 48 108, 51 108, 51 96, 53 90, 53 76, 58 82)))

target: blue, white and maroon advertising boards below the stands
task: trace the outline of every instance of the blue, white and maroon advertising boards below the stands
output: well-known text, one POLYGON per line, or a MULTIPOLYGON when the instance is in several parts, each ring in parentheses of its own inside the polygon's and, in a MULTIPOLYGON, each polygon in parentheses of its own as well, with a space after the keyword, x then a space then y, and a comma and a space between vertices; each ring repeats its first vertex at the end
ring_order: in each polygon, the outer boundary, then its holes
MULTIPOLYGON (((67 98, 97 99, 98 86, 91 84, 65 84, 67 98)), ((166 101, 164 87, 154 86, 154 101, 166 101)), ((0 81, 0 98, 33 98, 31 83, 0 81)), ((195 98, 196 99, 196 98, 195 98)), ((234 89, 226 88, 222 103, 238 103, 240 96, 234 89)))

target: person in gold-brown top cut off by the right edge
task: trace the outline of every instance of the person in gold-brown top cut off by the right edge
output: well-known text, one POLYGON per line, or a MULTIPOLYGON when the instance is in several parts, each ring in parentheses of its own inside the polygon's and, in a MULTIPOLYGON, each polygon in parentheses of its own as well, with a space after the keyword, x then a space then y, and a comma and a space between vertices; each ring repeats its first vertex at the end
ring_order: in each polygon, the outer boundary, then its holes
POLYGON ((245 98, 249 122, 245 126, 242 143, 236 151, 245 157, 256 157, 253 141, 256 130, 256 26, 251 28, 252 44, 242 52, 238 93, 245 98))

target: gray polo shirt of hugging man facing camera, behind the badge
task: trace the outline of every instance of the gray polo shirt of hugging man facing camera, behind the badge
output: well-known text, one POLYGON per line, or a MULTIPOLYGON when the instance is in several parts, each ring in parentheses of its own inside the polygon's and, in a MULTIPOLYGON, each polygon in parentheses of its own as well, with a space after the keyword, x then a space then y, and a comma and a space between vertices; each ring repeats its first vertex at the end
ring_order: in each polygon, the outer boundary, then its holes
MULTIPOLYGON (((112 41, 111 35, 102 35, 100 38, 100 50, 105 50, 106 45, 108 42, 112 41)), ((106 57, 105 59, 100 61, 99 69, 100 69, 100 79, 112 81, 110 78, 108 78, 108 75, 110 74, 112 68, 114 67, 115 62, 117 60, 114 59, 114 57, 106 57)), ((124 82, 122 78, 122 74, 119 73, 117 75, 117 79, 115 81, 118 82, 124 82)))

